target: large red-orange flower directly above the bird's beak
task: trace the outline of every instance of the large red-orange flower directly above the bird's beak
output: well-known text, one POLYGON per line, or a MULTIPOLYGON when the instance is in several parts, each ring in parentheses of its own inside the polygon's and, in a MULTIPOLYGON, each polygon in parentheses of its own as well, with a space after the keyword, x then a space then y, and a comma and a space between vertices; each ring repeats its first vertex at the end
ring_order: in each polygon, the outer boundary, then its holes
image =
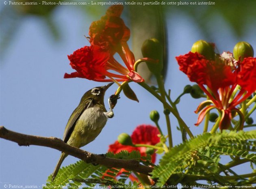
POLYGON ((65 73, 64 78, 81 77, 97 82, 144 81, 134 69, 135 58, 127 44, 130 30, 120 18, 122 11, 121 5, 111 6, 100 20, 91 24, 91 46, 82 47, 68 56, 76 72, 65 73), (113 57, 116 52, 126 67, 113 57))

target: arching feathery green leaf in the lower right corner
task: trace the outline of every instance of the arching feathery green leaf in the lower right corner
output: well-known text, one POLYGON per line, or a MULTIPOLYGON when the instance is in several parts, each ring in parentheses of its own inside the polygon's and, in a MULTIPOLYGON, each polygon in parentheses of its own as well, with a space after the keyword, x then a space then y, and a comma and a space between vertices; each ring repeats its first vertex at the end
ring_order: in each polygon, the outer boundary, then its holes
MULTIPOLYGON (((171 148, 160 160, 160 165, 154 168, 152 178, 158 179, 158 185, 164 185, 174 173, 181 169, 184 162, 190 162, 188 172, 200 172, 202 166, 197 169, 191 165, 193 162, 196 163, 196 158, 206 160, 205 165, 212 172, 212 176, 218 170, 219 155, 233 155, 256 161, 256 154, 252 153, 255 151, 255 139, 256 131, 239 131, 238 133, 223 131, 222 133, 198 135, 192 140, 171 148), (198 157, 191 160, 192 154, 198 157)), ((217 179, 220 183, 225 181, 221 176, 217 179)))

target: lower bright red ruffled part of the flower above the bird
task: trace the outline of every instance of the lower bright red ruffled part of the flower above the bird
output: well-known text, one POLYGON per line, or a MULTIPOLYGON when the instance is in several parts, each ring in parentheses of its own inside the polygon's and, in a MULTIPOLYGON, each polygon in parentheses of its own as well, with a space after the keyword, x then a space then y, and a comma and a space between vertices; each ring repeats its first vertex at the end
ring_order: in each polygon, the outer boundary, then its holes
POLYGON ((97 82, 127 81, 143 82, 144 79, 135 71, 123 67, 108 51, 100 46, 85 46, 68 56, 70 65, 76 72, 65 73, 64 78, 81 77, 97 82), (111 73, 108 70, 120 74, 111 73), (106 79, 106 76, 110 79, 106 79))

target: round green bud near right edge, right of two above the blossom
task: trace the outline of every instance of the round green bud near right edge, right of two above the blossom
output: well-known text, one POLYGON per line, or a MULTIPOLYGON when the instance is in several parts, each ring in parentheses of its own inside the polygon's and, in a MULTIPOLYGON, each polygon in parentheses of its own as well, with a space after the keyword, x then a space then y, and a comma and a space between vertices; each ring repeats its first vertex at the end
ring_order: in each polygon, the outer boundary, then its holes
POLYGON ((254 56, 254 50, 252 48, 252 45, 245 41, 240 41, 236 43, 233 49, 233 55, 236 60, 243 61, 246 57, 253 57, 254 56))

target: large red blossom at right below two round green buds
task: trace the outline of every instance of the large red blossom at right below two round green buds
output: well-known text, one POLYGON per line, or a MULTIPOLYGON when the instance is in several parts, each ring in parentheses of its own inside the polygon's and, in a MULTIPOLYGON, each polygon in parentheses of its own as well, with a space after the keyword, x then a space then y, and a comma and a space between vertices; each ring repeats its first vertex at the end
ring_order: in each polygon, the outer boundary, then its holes
MULTIPOLYGON (((230 126, 232 111, 243 116, 236 105, 245 101, 256 90, 256 58, 249 57, 239 62, 234 60, 230 52, 224 52, 215 60, 207 60, 197 52, 189 52, 176 57, 176 60, 180 70, 191 82, 196 82, 214 104, 205 107, 203 102, 198 106, 195 112, 200 114, 195 125, 199 125, 206 113, 213 108, 222 113, 220 129, 227 129, 230 126), (233 100, 230 100, 237 85, 241 86, 241 90, 233 100)), ((240 128, 242 127, 243 120, 240 128)))

